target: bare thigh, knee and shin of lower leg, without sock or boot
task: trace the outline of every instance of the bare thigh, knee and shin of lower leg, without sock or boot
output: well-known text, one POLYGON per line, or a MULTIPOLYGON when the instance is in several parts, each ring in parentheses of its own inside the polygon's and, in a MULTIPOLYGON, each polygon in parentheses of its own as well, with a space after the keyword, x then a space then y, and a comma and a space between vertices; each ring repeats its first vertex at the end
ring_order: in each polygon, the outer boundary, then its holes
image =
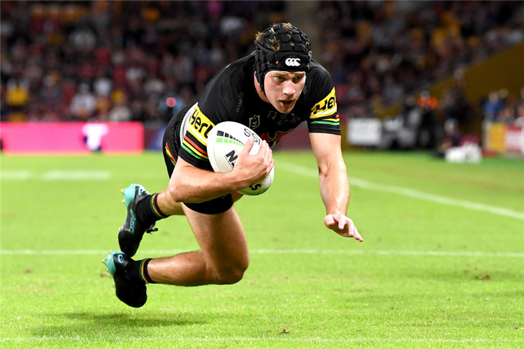
POLYGON ((184 205, 184 211, 201 251, 150 260, 151 281, 184 286, 240 281, 249 265, 249 251, 234 207, 221 214, 202 214, 184 205))

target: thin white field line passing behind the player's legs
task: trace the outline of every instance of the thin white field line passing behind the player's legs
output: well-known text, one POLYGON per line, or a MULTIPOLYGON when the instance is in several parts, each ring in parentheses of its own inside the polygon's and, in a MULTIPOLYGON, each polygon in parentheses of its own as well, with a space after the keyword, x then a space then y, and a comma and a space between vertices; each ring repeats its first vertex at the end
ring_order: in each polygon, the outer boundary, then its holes
MULTIPOLYGON (((175 255, 186 250, 144 250, 147 255, 175 255)), ((105 255, 108 250, 0 250, 0 255, 105 255)), ((423 255, 436 257, 500 257, 524 258, 524 252, 481 251, 395 251, 395 250, 317 250, 317 249, 254 249, 252 254, 305 255, 423 255)))

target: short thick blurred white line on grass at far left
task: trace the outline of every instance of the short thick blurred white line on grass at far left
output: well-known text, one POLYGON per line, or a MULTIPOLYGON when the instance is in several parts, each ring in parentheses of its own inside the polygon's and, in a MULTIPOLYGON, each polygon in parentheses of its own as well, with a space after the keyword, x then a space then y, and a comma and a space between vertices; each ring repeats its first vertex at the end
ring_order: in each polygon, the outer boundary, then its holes
POLYGON ((26 181, 28 179, 42 181, 107 181, 111 177, 111 172, 107 170, 52 170, 38 174, 25 170, 0 171, 0 180, 2 181, 26 181))

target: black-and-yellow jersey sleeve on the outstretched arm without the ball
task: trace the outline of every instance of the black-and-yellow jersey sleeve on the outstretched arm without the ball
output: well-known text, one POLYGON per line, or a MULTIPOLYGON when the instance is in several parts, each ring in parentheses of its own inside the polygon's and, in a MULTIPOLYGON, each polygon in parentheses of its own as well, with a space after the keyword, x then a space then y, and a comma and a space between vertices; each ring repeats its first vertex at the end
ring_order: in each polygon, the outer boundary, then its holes
POLYGON ((312 100, 307 128, 310 133, 333 133, 340 135, 340 118, 337 112, 335 87, 328 71, 319 67, 312 76, 312 100))

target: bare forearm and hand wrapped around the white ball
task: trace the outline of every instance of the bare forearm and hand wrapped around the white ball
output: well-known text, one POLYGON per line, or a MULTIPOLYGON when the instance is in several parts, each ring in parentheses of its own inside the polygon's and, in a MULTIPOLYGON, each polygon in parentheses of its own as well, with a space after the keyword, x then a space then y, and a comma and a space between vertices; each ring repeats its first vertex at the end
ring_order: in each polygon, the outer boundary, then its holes
POLYGON ((240 151, 235 168, 217 173, 197 168, 179 157, 169 181, 169 194, 175 202, 197 203, 219 198, 247 188, 265 178, 273 167, 272 151, 264 141, 259 152, 250 155, 254 139, 240 151))

